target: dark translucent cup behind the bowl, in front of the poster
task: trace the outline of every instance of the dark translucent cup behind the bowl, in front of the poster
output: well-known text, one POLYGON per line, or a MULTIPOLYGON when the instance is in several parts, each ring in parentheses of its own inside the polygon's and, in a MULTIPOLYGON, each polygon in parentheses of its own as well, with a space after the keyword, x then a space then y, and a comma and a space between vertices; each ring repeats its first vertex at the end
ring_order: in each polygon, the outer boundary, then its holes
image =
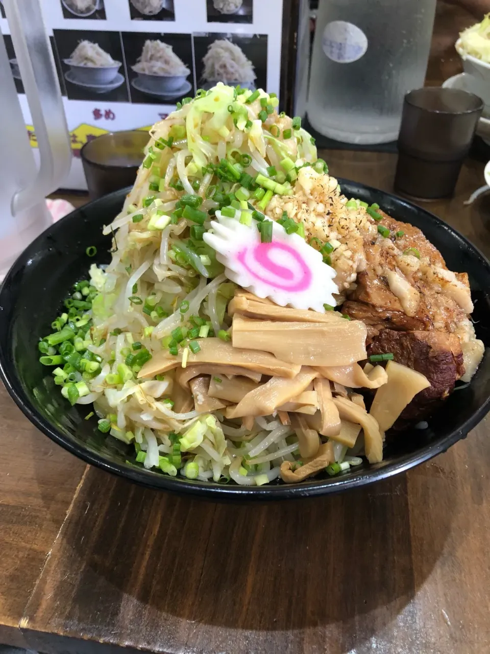
POLYGON ((131 186, 144 158, 148 132, 115 131, 88 141, 80 150, 90 199, 131 186))

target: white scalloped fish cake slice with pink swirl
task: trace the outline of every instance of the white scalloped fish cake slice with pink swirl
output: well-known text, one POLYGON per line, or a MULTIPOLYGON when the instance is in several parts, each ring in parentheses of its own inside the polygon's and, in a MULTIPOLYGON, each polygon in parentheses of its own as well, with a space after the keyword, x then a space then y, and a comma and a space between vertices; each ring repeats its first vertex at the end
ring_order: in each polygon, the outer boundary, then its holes
POLYGON ((333 293, 338 288, 332 281, 336 273, 323 263, 318 250, 298 234, 287 234, 278 222, 272 222, 271 243, 261 243, 255 220, 248 226, 240 223, 240 217, 240 211, 235 218, 216 211, 213 232, 203 236, 216 250, 228 279, 282 307, 325 313, 324 304, 336 305, 333 293))

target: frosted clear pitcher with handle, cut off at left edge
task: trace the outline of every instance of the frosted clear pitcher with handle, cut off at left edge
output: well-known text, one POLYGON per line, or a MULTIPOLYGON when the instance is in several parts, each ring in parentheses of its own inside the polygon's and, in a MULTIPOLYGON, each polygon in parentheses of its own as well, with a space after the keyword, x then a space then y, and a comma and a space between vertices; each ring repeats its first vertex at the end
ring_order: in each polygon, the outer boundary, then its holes
POLYGON ((4 0, 39 145, 37 169, 3 39, 0 39, 0 273, 51 222, 44 198, 71 166, 69 133, 39 0, 4 0))

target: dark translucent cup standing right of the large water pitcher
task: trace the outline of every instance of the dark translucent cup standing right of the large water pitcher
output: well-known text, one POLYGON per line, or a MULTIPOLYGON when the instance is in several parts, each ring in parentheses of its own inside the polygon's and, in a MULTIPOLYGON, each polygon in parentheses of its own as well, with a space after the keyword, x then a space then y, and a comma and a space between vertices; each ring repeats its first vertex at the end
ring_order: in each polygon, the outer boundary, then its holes
POLYGON ((395 190, 421 199, 451 196, 482 110, 478 95, 453 88, 405 95, 395 190))

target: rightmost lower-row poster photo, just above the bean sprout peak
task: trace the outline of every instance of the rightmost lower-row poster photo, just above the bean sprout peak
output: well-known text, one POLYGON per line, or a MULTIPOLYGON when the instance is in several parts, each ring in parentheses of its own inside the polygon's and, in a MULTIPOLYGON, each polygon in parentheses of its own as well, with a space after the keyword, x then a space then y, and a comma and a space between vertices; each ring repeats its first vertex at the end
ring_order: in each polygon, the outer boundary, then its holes
POLYGON ((197 86, 267 86, 267 35, 201 33, 193 38, 197 86))

